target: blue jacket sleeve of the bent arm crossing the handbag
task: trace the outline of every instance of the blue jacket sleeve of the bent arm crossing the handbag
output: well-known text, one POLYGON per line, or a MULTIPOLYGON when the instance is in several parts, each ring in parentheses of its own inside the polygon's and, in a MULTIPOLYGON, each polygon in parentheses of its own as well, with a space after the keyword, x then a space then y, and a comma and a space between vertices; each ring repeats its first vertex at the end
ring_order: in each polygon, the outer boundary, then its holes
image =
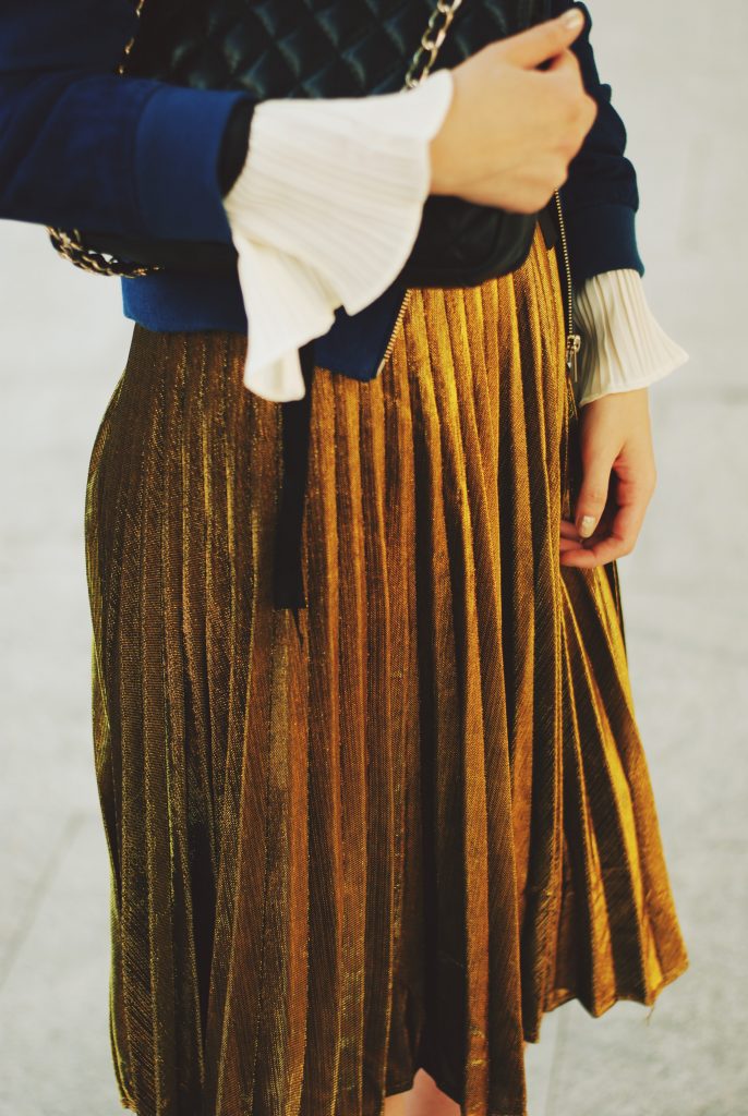
POLYGON ((251 98, 114 74, 135 19, 133 0, 4 0, 0 218, 230 241, 221 141, 251 98))

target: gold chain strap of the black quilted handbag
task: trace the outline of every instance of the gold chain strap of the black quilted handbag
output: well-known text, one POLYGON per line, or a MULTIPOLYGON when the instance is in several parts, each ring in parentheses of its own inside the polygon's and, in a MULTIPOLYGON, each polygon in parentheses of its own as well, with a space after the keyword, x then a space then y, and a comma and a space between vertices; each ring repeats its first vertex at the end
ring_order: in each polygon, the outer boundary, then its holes
MULTIPOLYGON (((444 41, 448 28, 454 17, 454 12, 461 3, 462 0, 437 0, 437 7, 429 17, 426 29, 421 36, 421 41, 419 42, 409 66, 403 88, 413 88, 414 86, 420 85, 426 77, 434 64, 437 55, 439 54, 439 48, 444 41), (443 18, 443 22, 434 35, 434 28, 437 27, 440 17, 443 18), (416 77, 415 73, 418 67, 426 52, 428 58, 423 69, 416 77)), ((135 8, 135 16, 137 18, 140 18, 144 4, 145 0, 137 0, 135 8)), ((137 31, 135 31, 124 49, 122 61, 116 69, 117 74, 124 74, 127 58, 135 42, 136 33, 137 31)), ((127 279, 134 279, 137 276, 155 275, 156 272, 164 270, 155 263, 141 266, 126 260, 118 260, 109 253, 98 252, 95 249, 86 248, 79 229, 71 229, 69 232, 65 232, 63 229, 52 229, 48 225, 47 232, 49 233, 49 239, 55 250, 59 252, 60 256, 64 256, 66 260, 69 260, 70 263, 75 263, 77 268, 81 268, 84 271, 92 271, 99 276, 121 276, 127 279)))

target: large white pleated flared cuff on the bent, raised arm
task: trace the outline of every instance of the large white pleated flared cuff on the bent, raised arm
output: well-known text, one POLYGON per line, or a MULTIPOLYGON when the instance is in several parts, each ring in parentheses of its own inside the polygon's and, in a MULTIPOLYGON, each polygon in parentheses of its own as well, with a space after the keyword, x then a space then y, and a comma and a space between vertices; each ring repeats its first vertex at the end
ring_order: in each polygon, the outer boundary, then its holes
POLYGON ((431 185, 429 144, 452 98, 449 69, 368 97, 256 106, 244 165, 223 200, 248 319, 243 383, 305 394, 298 347, 343 306, 374 301, 410 256, 431 185))

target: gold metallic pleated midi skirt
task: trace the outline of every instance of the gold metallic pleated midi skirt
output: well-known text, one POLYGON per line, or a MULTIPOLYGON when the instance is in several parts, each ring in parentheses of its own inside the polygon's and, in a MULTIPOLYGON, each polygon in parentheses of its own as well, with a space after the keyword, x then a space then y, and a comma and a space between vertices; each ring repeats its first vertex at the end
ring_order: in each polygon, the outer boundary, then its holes
POLYGON ((316 368, 298 629, 246 345, 136 326, 90 458, 122 1103, 376 1116, 423 1066, 525 1116, 544 1012, 688 966, 615 562, 558 557, 555 251, 538 227, 514 275, 415 289, 374 381, 316 368))

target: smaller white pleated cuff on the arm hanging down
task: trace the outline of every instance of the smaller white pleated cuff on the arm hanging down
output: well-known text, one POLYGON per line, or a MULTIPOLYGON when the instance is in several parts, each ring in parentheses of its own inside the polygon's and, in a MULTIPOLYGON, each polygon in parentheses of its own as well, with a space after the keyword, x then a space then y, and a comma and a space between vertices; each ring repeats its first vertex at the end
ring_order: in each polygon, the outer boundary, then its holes
POLYGON ((652 314, 639 271, 621 268, 585 280, 574 294, 582 337, 576 401, 648 387, 689 359, 652 314))

